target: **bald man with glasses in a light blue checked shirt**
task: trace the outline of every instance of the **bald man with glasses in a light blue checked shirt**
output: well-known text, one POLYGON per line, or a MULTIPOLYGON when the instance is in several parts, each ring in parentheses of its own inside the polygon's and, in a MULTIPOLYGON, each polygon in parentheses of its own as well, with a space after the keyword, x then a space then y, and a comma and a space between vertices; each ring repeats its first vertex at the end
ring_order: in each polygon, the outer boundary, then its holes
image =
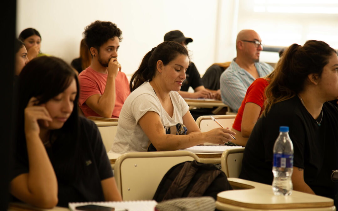
POLYGON ((273 70, 269 64, 259 61, 262 50, 262 40, 256 31, 246 29, 238 33, 237 56, 220 78, 222 102, 232 112, 238 111, 250 84, 273 70))

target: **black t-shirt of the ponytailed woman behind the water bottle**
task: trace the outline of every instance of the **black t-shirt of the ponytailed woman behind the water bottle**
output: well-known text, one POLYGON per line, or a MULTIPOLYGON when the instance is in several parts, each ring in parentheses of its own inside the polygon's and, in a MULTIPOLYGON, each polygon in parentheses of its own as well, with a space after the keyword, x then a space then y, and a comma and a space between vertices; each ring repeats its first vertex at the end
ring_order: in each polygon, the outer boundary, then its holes
MULTIPOLYGON (((318 122, 320 118, 321 115, 318 122)), ((272 184, 273 145, 279 127, 289 126, 294 166, 304 169, 304 180, 317 195, 334 199, 338 183, 331 181, 331 174, 338 169, 338 108, 324 103, 320 124, 318 126, 298 96, 273 105, 252 130, 244 150, 240 178, 272 184)))

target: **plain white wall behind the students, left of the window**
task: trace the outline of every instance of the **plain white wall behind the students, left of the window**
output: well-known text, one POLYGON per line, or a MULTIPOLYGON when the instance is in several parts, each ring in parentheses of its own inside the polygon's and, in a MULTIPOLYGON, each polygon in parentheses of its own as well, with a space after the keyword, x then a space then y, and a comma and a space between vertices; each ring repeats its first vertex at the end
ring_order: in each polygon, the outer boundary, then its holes
POLYGON ((202 75, 217 60, 219 1, 18 0, 17 35, 25 28, 37 29, 42 36, 41 51, 70 63, 79 56, 84 27, 95 20, 111 21, 122 30, 118 60, 122 71, 130 75, 143 56, 163 42, 166 32, 178 29, 193 38, 188 49, 202 75))

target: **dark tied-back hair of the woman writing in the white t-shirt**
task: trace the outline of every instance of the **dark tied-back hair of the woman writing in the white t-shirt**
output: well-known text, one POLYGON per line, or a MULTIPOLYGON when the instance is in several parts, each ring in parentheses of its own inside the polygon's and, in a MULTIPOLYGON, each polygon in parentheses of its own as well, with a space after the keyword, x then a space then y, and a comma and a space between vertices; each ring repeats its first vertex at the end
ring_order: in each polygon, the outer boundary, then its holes
POLYGON ((153 48, 143 57, 139 69, 132 75, 129 83, 130 91, 134 91, 143 82, 151 81, 155 77, 158 60, 167 65, 180 54, 189 57, 188 50, 183 45, 174 41, 165 41, 153 48))

